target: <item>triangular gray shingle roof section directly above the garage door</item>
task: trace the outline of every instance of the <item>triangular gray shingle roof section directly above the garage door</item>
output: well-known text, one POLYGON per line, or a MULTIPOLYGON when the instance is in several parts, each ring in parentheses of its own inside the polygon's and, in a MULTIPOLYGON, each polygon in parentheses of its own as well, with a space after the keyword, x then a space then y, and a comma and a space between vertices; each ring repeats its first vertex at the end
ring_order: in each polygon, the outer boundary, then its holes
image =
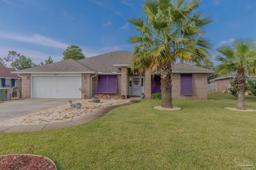
POLYGON ((73 59, 19 70, 17 72, 93 72, 73 59))

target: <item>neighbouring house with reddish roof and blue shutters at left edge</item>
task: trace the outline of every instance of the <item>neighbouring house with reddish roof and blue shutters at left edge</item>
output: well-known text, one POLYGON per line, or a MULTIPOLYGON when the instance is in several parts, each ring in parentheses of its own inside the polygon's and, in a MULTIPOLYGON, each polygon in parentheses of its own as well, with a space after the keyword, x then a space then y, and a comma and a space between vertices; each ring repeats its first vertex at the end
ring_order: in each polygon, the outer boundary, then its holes
POLYGON ((16 70, 0 65, 0 87, 19 87, 21 88, 21 76, 11 73, 16 70))

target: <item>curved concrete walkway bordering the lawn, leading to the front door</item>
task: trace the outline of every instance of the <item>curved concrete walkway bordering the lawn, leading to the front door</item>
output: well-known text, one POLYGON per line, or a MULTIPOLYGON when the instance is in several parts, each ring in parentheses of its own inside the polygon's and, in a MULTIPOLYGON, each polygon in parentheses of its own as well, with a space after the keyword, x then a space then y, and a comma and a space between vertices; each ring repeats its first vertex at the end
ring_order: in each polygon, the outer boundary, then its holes
POLYGON ((94 110, 77 119, 73 119, 72 121, 62 121, 62 122, 56 122, 56 123, 37 124, 37 125, 0 126, 0 133, 41 131, 46 129, 73 127, 73 126, 81 125, 81 124, 99 119, 100 117, 104 116, 106 113, 108 113, 109 111, 117 107, 128 106, 138 102, 140 102, 140 99, 132 99, 128 103, 104 107, 98 110, 94 110))

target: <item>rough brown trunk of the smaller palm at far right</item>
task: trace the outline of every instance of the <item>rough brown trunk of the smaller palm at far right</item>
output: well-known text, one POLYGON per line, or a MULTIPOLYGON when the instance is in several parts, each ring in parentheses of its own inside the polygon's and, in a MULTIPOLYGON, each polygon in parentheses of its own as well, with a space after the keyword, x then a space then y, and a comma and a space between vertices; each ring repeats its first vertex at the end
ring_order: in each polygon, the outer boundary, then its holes
POLYGON ((245 110, 244 104, 244 88, 245 88, 245 74, 244 68, 240 68, 235 77, 235 88, 237 90, 237 109, 245 110))

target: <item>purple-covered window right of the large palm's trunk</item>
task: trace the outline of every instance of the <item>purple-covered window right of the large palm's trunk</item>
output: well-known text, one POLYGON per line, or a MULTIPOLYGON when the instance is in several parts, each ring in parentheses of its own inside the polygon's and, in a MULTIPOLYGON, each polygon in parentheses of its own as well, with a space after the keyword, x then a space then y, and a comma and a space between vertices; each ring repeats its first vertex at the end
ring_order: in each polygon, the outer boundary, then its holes
POLYGON ((180 74, 180 94, 193 95, 192 74, 180 74))

